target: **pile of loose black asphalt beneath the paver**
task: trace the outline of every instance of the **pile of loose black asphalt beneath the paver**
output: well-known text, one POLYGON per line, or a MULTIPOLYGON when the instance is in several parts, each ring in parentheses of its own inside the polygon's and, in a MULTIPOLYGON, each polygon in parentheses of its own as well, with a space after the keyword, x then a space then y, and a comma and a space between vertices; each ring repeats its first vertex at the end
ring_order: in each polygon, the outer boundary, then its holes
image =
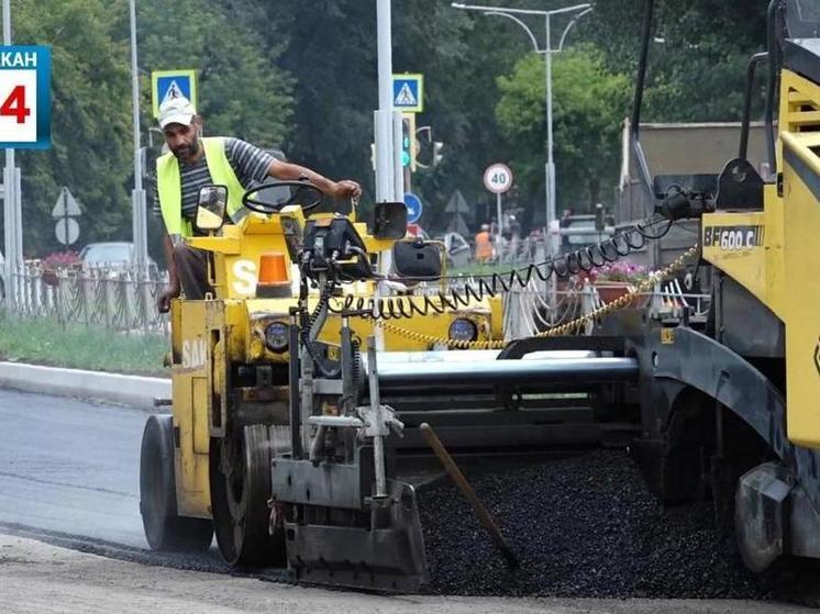
POLYGON ((445 479, 419 492, 433 593, 783 599, 793 584, 749 572, 710 502, 663 507, 624 450, 466 473, 521 566, 445 479))

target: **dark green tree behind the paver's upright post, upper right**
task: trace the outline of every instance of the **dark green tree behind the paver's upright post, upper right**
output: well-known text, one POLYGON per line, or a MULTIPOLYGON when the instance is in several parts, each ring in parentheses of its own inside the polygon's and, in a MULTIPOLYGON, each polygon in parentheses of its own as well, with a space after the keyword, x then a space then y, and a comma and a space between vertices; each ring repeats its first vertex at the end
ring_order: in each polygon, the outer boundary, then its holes
MULTIPOLYGON (((644 5, 645 0, 599 0, 576 33, 576 40, 594 41, 610 69, 632 81, 644 5)), ((642 121, 739 121, 746 62, 766 44, 767 2, 656 5, 642 121)), ((761 97, 755 102, 762 112, 761 97)))

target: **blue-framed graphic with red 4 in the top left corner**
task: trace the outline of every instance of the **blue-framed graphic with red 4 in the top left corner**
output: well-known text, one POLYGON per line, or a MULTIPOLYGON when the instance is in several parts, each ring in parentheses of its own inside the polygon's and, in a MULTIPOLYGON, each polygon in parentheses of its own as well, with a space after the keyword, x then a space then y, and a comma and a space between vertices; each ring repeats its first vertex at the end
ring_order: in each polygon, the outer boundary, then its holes
POLYGON ((0 148, 52 144, 52 53, 45 46, 0 46, 0 148))

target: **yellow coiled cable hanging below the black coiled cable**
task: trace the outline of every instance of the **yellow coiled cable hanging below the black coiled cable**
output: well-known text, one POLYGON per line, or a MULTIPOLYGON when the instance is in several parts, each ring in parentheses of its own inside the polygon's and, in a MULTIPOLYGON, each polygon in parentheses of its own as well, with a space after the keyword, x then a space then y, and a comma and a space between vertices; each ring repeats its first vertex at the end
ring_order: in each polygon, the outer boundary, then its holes
MULTIPOLYGON (((700 249, 700 245, 691 246, 680 257, 676 258, 675 260, 666 265, 664 268, 650 272, 644 279, 636 282, 634 286, 631 286, 625 294, 614 299, 613 301, 602 304, 601 306, 591 311, 590 313, 587 313, 586 315, 576 317, 575 320, 567 322, 566 324, 562 324, 559 326, 547 328, 546 331, 542 331, 541 333, 538 333, 536 335, 533 335, 533 336, 555 337, 558 335, 573 334, 573 333, 580 331, 589 322, 592 322, 601 317, 606 317, 607 315, 609 315, 610 313, 614 311, 625 309, 632 303, 632 301, 635 298, 635 294, 651 292, 654 289, 656 283, 665 281, 672 273, 674 273, 678 269, 682 269, 684 265, 686 264, 686 260, 688 260, 695 254, 697 254, 699 249, 700 249)), ((424 333, 419 333, 417 331, 408 331, 407 328, 403 328, 401 326, 396 326, 395 324, 391 324, 390 322, 386 322, 381 320, 376 321, 376 325, 380 326, 384 331, 388 333, 392 333, 392 334, 402 336, 405 338, 408 338, 414 342, 424 342, 428 344, 446 345, 447 347, 453 348, 453 349, 503 349, 508 343, 505 341, 465 342, 465 341, 458 341, 458 339, 451 339, 448 337, 436 337, 434 335, 428 335, 424 333)))

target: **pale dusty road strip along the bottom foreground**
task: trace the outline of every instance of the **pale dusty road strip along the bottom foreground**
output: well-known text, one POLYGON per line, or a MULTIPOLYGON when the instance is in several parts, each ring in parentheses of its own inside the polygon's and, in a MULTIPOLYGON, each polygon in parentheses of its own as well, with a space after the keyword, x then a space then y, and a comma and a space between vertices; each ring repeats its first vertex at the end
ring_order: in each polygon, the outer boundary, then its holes
POLYGON ((374 595, 162 569, 0 535, 0 612, 222 614, 808 614, 765 602, 374 595))

